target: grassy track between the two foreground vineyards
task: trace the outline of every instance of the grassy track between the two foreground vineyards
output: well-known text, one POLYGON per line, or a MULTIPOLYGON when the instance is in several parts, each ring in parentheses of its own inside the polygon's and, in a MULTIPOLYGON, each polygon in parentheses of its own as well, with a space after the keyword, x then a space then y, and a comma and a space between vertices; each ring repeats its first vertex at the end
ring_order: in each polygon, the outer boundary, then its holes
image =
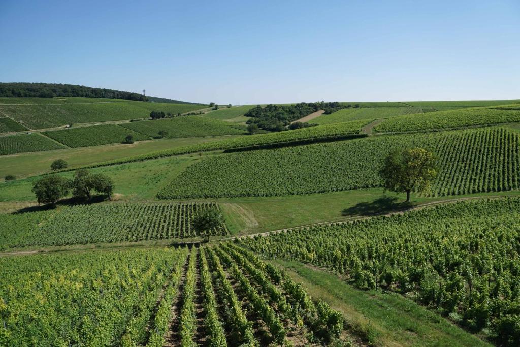
POLYGON ((395 293, 362 291, 335 275, 294 261, 272 261, 314 299, 339 310, 348 324, 375 346, 489 346, 448 320, 395 293))

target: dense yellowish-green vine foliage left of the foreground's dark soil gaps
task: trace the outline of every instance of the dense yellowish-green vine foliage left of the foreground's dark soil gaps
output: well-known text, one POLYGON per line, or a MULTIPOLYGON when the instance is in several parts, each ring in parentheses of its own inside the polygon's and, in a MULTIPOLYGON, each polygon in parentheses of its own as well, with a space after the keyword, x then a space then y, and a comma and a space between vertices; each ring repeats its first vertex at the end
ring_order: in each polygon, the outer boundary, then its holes
POLYGON ((2 257, 0 336, 38 346, 142 345, 161 289, 186 256, 156 248, 2 257))

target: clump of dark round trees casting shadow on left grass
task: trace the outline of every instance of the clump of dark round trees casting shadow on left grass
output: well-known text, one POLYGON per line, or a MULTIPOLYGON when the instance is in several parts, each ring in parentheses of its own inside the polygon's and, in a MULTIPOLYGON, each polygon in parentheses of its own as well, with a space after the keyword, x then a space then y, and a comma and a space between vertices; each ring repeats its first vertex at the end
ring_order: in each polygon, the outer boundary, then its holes
POLYGON ((56 174, 46 176, 33 184, 32 191, 38 203, 56 204, 72 190, 74 197, 90 200, 92 190, 110 199, 114 183, 110 177, 103 174, 93 174, 87 169, 76 170, 73 179, 56 174))

